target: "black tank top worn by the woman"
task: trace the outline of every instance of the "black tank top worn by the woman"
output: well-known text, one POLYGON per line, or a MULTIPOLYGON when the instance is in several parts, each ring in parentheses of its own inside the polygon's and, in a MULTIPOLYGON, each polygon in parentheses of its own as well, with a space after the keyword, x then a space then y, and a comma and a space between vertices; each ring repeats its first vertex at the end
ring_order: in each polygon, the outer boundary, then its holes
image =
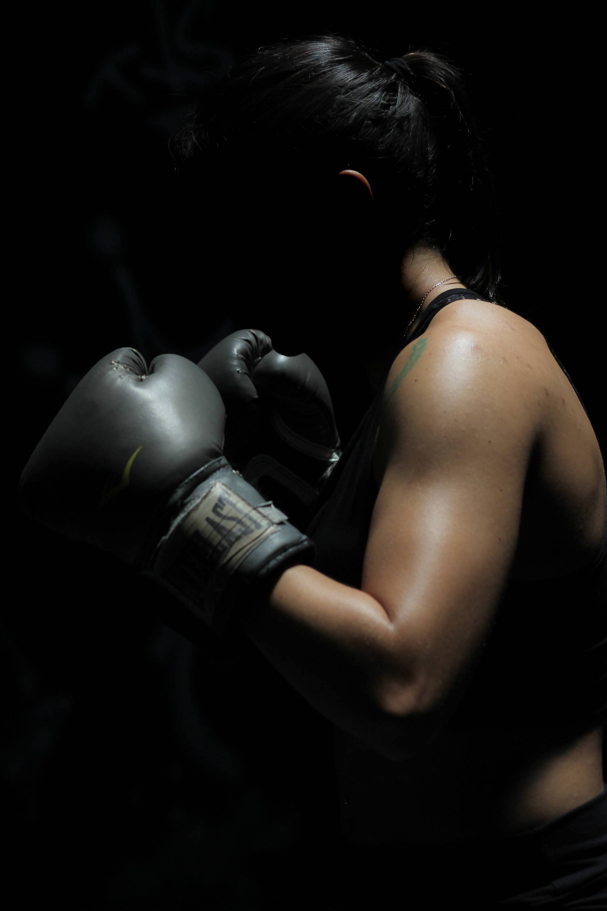
MULTIPOLYGON (((485 300, 470 291, 439 294, 407 344, 424 333, 442 307, 467 299, 485 300)), ((307 528, 318 550, 315 567, 357 589, 378 495, 371 455, 382 398, 383 384, 307 528)), ((583 732, 606 722, 607 514, 602 548, 589 566, 558 578, 507 582, 468 690, 448 726, 583 732)))

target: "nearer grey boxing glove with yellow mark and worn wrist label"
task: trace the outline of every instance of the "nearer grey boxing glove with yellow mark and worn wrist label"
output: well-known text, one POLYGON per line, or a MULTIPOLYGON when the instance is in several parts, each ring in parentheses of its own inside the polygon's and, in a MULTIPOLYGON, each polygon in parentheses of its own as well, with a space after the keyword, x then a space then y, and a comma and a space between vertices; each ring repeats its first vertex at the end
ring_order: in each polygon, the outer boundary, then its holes
POLYGON ((221 638, 285 568, 315 558, 309 537, 229 464, 225 422, 196 364, 162 354, 148 367, 135 349, 117 349, 35 447, 21 506, 137 567, 221 638))

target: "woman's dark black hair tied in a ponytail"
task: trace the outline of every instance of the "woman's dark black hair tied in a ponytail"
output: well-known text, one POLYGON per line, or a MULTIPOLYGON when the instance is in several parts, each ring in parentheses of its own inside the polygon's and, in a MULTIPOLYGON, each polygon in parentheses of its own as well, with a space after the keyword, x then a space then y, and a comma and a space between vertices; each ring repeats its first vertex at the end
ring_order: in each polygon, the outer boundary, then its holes
POLYGON ((209 85, 171 138, 177 174, 221 185, 226 168, 246 162, 284 198, 294 170, 317 189, 339 170, 359 170, 390 263, 426 241, 468 288, 505 306, 501 214, 460 69, 430 50, 402 59, 397 74, 335 33, 258 47, 209 85))

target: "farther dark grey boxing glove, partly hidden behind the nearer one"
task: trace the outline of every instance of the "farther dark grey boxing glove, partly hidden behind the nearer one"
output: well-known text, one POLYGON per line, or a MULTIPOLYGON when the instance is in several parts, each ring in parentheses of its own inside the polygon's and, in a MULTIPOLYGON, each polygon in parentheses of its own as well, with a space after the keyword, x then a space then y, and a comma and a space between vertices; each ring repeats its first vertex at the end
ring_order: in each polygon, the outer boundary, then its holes
POLYGON ((224 451, 299 528, 341 456, 327 383, 308 354, 279 354, 266 333, 228 335, 198 366, 226 405, 224 451))

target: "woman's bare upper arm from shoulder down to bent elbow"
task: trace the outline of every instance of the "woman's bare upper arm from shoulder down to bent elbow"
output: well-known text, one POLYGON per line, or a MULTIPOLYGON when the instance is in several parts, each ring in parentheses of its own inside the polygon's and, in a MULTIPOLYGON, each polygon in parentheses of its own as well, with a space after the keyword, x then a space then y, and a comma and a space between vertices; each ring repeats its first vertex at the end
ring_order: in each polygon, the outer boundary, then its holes
POLYGON ((410 351, 397 358, 384 396, 386 467, 361 588, 394 629, 384 704, 428 719, 430 736, 455 710, 496 618, 536 435, 517 359, 494 348, 482 333, 434 333, 409 371, 410 351))

